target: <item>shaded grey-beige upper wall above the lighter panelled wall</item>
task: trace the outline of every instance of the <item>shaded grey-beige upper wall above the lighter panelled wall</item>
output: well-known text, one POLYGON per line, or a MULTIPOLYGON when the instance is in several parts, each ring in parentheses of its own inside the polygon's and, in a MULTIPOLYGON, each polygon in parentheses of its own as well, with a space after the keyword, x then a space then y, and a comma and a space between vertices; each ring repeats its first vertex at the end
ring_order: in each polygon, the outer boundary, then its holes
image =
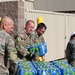
POLYGON ((34 9, 45 11, 74 11, 75 0, 35 0, 34 9))

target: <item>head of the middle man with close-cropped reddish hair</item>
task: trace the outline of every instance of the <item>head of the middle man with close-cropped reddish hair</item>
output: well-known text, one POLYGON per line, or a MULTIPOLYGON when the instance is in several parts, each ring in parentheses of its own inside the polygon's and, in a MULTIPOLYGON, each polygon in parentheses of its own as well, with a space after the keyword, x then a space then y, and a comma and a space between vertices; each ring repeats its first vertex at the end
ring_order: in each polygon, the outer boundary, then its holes
POLYGON ((35 22, 33 20, 28 20, 25 25, 27 33, 31 34, 35 28, 35 22))

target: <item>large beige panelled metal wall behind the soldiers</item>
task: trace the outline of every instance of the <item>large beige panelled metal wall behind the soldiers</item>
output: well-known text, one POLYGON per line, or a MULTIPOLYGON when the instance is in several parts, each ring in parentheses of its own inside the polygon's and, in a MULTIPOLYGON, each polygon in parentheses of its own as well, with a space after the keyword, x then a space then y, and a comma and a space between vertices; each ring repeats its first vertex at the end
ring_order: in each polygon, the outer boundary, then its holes
POLYGON ((47 31, 44 34, 48 46, 46 61, 64 58, 69 37, 75 31, 75 15, 37 10, 28 10, 26 15, 26 19, 34 20, 36 26, 39 16, 47 25, 47 31))

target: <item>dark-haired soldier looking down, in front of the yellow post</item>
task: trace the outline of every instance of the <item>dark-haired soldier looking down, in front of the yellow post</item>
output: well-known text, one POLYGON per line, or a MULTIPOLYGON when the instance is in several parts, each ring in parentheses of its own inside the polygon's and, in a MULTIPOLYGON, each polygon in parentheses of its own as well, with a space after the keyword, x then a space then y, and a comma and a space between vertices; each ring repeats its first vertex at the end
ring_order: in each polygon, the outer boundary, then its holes
MULTIPOLYGON (((39 23, 37 25, 37 28, 32 33, 32 40, 34 44, 44 42, 43 34, 46 31, 46 29, 47 27, 44 23, 39 23)), ((43 56, 42 59, 45 60, 45 57, 43 56)))

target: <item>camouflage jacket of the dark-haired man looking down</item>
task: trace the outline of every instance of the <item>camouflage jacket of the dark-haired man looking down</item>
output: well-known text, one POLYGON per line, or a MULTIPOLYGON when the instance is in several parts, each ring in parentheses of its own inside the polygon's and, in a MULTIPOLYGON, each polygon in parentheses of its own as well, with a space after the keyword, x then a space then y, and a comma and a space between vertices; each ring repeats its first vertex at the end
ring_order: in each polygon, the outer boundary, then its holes
POLYGON ((44 38, 43 38, 43 35, 41 36, 38 36, 36 30, 32 33, 32 41, 33 43, 41 43, 41 42, 44 42, 44 38))

